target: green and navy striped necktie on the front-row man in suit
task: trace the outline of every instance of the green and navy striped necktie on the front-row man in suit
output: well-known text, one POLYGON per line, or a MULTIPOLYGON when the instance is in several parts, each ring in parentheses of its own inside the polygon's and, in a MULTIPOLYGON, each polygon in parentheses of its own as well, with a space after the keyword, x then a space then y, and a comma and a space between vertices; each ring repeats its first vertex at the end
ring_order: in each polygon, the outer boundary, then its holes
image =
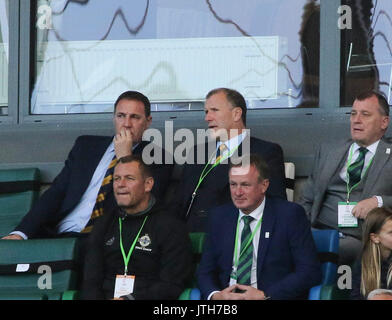
POLYGON ((244 222, 244 228, 242 229, 241 233, 241 249, 240 252, 242 253, 239 258, 238 268, 237 268, 237 283, 250 285, 250 275, 252 270, 252 263, 253 263, 253 241, 249 244, 246 248, 245 252, 243 248, 248 243, 252 231, 250 229, 250 223, 252 222, 253 217, 251 216, 243 216, 242 221, 244 222))

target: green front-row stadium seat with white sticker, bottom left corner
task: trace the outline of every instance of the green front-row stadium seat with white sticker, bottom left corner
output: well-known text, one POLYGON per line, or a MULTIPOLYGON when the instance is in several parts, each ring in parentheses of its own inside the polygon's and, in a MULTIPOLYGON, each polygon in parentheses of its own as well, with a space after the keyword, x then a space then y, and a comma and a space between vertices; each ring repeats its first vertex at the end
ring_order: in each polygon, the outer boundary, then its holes
POLYGON ((0 299, 74 298, 76 238, 0 240, 0 299))

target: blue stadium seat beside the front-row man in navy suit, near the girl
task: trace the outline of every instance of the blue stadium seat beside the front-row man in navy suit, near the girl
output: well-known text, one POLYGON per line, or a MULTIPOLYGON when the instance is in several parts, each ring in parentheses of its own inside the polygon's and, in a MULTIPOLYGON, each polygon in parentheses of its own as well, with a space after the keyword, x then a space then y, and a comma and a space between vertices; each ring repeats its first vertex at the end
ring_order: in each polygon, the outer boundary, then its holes
POLYGON ((309 300, 320 300, 327 297, 327 295, 322 293, 331 285, 336 284, 339 233, 333 229, 312 230, 312 235, 321 262, 322 281, 320 285, 311 288, 308 298, 309 300))

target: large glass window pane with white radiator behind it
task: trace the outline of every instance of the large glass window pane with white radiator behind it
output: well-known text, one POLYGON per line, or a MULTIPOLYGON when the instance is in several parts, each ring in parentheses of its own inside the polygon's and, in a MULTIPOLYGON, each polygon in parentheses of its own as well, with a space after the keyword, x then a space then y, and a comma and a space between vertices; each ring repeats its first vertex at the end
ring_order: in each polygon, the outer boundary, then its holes
POLYGON ((318 106, 316 0, 39 0, 32 114, 203 108, 217 87, 250 108, 318 106), (284 21, 284 23, 282 23, 284 21))

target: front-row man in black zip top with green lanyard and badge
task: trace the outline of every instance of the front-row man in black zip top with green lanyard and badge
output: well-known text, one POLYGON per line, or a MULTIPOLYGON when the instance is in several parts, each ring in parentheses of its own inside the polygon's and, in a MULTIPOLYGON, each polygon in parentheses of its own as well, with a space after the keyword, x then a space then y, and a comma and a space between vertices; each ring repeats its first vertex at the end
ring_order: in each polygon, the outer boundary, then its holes
POLYGON ((98 218, 89 239, 84 299, 176 299, 191 271, 185 225, 162 210, 154 178, 139 156, 119 160, 117 206, 98 218))

